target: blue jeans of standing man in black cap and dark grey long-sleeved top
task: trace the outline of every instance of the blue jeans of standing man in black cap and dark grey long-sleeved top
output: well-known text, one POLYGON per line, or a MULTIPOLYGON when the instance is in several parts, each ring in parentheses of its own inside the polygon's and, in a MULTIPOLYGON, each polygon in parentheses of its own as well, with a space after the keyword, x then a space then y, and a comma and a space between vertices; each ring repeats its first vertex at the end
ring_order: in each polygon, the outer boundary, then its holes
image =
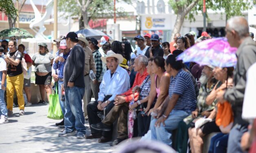
POLYGON ((65 88, 65 130, 70 133, 75 129, 78 133, 86 133, 85 116, 82 111, 82 97, 85 94, 84 87, 65 88))

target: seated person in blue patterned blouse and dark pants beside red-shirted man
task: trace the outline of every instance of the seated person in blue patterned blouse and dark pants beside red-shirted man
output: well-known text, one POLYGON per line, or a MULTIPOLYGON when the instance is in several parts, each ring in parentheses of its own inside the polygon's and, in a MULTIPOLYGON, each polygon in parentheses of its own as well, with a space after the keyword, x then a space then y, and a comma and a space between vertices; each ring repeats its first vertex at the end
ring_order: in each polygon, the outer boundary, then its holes
POLYGON ((137 109, 137 121, 138 121, 138 136, 144 136, 145 133, 149 130, 151 116, 145 115, 145 110, 149 110, 152 107, 152 104, 156 102, 154 99, 149 99, 149 94, 153 91, 150 89, 152 81, 155 79, 155 75, 152 73, 152 61, 153 59, 149 59, 149 63, 147 65, 147 77, 140 85, 137 85, 133 88, 133 92, 139 92, 139 98, 136 103, 131 105, 130 109, 137 109))

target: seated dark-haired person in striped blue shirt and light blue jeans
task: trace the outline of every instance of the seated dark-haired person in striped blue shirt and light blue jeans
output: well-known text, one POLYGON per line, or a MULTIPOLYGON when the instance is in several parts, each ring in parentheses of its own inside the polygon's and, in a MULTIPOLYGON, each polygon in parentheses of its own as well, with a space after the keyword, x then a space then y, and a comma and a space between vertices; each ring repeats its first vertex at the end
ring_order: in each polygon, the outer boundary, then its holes
POLYGON ((182 61, 176 61, 176 55, 169 55, 165 61, 165 70, 171 76, 169 99, 157 112, 158 119, 151 120, 151 140, 171 145, 172 132, 178 123, 196 109, 196 91, 188 72, 183 70, 182 61))

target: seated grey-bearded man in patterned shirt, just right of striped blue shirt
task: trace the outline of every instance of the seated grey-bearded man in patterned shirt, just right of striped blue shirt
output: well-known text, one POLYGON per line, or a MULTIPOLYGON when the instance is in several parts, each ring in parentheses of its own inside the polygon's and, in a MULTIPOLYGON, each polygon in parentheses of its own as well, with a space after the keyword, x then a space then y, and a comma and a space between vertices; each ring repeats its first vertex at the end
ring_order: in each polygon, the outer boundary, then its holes
POLYGON ((184 120, 180 121, 178 125, 178 131, 176 135, 176 147, 175 149, 179 153, 187 153, 187 141, 189 127, 194 125, 194 122, 198 118, 203 116, 209 117, 210 112, 214 109, 215 103, 207 105, 205 103, 206 97, 211 93, 214 86, 216 85, 216 79, 214 78, 213 66, 204 66, 200 81, 203 83, 199 90, 199 96, 197 98, 197 108, 192 111, 191 115, 184 120))

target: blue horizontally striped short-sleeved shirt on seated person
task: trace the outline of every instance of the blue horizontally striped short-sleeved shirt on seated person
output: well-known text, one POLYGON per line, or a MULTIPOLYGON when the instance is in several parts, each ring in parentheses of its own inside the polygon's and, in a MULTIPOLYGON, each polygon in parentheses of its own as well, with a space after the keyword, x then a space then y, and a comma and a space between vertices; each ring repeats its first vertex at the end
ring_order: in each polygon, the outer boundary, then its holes
POLYGON ((188 72, 180 70, 175 77, 171 77, 169 97, 178 94, 179 98, 174 109, 194 111, 196 109, 196 91, 188 72))

